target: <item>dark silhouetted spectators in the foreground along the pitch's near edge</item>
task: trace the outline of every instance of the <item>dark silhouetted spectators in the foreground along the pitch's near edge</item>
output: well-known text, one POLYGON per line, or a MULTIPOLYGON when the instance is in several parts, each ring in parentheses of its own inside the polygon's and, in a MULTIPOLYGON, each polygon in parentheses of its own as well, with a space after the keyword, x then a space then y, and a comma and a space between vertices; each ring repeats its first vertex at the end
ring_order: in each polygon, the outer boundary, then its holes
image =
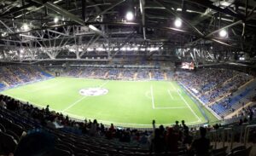
POLYGON ((33 118, 38 124, 49 129, 67 129, 76 131, 76 134, 79 135, 136 143, 154 153, 178 152, 179 148, 183 147, 188 153, 201 155, 207 154, 210 149, 210 142, 205 137, 207 129, 201 128, 201 137, 196 137, 195 130, 189 130, 185 121, 182 121, 181 124, 176 121, 176 124, 167 127, 163 125, 156 127, 153 120, 153 131, 122 129, 114 127, 113 124, 107 128, 103 124, 99 124, 96 119, 93 121, 85 119, 83 122, 74 121, 61 113, 50 111, 49 106, 39 109, 6 95, 0 95, 0 108, 20 114, 24 118, 33 118), (200 148, 202 146, 203 149, 200 148))

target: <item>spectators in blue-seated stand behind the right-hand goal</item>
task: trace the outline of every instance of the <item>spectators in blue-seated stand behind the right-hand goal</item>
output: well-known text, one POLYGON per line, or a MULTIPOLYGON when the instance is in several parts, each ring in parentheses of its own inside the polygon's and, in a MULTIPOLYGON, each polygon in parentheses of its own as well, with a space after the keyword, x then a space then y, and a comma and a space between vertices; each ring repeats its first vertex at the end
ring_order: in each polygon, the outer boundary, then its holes
POLYGON ((189 75, 180 74, 178 77, 182 84, 220 117, 242 107, 247 102, 247 96, 256 88, 250 85, 238 90, 252 80, 253 76, 226 69, 207 68, 190 72, 189 75))

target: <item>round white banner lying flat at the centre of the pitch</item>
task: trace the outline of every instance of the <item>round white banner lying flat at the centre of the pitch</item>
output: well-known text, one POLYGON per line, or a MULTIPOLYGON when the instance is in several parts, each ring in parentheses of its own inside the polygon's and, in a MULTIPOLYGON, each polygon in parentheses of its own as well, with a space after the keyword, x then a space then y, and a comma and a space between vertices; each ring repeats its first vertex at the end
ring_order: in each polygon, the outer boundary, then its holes
POLYGON ((80 95, 96 96, 96 95, 106 95, 108 90, 100 87, 96 88, 87 88, 79 90, 80 95))

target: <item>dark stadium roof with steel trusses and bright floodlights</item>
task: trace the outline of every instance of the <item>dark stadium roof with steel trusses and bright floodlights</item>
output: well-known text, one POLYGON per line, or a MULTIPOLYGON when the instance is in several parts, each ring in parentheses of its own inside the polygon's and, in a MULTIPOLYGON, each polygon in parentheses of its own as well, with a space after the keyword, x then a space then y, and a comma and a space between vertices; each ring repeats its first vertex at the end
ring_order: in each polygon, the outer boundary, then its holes
POLYGON ((255 60, 255 7, 254 0, 0 0, 0 60, 255 60))

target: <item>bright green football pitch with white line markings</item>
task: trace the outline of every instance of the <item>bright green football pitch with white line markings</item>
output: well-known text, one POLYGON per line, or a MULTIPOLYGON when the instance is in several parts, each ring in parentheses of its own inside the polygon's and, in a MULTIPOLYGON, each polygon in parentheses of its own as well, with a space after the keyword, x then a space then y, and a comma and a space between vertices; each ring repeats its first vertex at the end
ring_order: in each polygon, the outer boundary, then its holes
POLYGON ((187 124, 207 122, 189 95, 179 84, 170 81, 52 78, 1 94, 37 107, 49 105, 51 110, 73 118, 96 118, 103 124, 125 127, 152 127, 152 119, 164 125, 174 124, 176 120, 185 120, 187 124), (83 95, 87 89, 92 89, 90 95, 83 95), (104 95, 94 95, 98 89, 107 91, 104 95))

